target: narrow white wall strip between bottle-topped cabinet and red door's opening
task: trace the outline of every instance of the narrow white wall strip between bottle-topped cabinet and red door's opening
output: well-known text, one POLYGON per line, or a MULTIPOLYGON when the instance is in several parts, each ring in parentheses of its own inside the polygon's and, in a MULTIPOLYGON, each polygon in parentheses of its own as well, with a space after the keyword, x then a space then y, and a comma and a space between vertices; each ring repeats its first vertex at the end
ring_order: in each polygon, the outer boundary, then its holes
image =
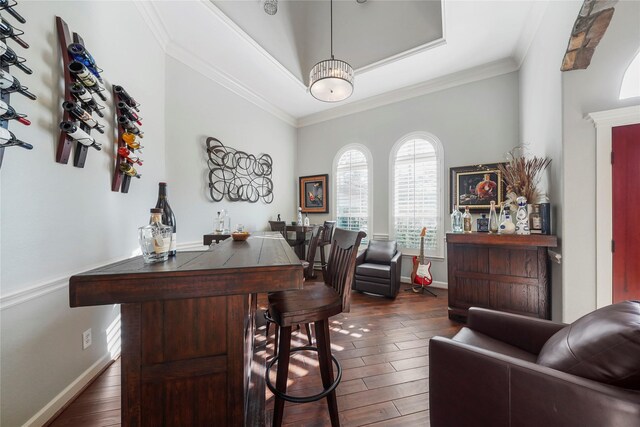
MULTIPOLYGON (((541 182, 562 245, 562 72, 560 64, 581 1, 549 2, 520 68, 520 135, 531 154, 552 159, 541 182)), ((553 249, 562 252, 561 248, 553 249)), ((552 319, 562 320, 562 265, 551 264, 552 319)))

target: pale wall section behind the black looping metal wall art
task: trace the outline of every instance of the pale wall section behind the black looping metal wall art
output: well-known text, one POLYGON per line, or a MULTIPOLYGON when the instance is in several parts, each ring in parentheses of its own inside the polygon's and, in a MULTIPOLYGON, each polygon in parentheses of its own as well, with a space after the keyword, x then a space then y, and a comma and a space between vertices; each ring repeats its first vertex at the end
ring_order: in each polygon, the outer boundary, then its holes
POLYGON ((232 227, 243 224, 248 230, 265 230, 278 213, 286 217, 294 211, 295 128, 171 57, 166 94, 169 200, 179 242, 202 242, 203 234, 213 232, 213 220, 221 209, 229 212, 232 227), (211 201, 205 144, 209 136, 228 147, 273 158, 271 204, 211 201))

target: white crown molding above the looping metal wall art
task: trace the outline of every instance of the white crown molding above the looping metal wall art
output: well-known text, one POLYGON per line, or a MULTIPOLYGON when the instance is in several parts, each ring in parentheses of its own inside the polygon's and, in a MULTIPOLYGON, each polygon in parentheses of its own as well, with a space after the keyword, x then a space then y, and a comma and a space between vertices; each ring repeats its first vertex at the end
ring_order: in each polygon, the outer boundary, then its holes
POLYGON ((250 103, 254 104, 258 108, 272 114, 283 122, 296 126, 297 120, 292 115, 274 106, 272 103, 257 95, 251 89, 248 89, 234 77, 220 70, 219 68, 203 61, 198 55, 194 54, 184 46, 177 43, 170 42, 166 49, 166 54, 176 61, 184 64, 194 71, 202 74, 213 82, 219 84, 225 89, 235 93, 236 95, 244 98, 250 103))

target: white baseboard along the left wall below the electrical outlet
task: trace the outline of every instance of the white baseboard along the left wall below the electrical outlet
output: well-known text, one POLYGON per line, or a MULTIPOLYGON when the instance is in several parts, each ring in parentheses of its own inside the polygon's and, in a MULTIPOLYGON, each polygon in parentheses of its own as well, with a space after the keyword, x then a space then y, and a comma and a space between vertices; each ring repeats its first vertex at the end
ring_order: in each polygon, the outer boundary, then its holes
POLYGON ((53 417, 59 415, 61 409, 75 398, 87 385, 93 381, 113 359, 110 354, 105 354, 98 359, 86 371, 84 371, 71 384, 65 387, 56 397, 54 397, 44 408, 40 409, 29 421, 24 423, 22 427, 40 427, 47 425, 53 421, 53 417))

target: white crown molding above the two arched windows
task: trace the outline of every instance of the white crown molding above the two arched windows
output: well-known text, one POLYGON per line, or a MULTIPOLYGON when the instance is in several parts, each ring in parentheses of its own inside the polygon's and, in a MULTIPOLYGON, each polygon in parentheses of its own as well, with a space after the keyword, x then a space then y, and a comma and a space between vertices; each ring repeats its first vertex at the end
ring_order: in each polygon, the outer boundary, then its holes
POLYGON ((479 80, 500 76, 518 70, 518 65, 511 58, 490 62, 478 67, 469 68, 457 73, 438 77, 427 82, 400 88, 381 95, 372 96, 350 104, 335 107, 330 110, 310 114, 298 119, 298 127, 310 126, 333 120, 350 114, 360 113, 407 99, 416 98, 452 87, 473 83, 479 80))

